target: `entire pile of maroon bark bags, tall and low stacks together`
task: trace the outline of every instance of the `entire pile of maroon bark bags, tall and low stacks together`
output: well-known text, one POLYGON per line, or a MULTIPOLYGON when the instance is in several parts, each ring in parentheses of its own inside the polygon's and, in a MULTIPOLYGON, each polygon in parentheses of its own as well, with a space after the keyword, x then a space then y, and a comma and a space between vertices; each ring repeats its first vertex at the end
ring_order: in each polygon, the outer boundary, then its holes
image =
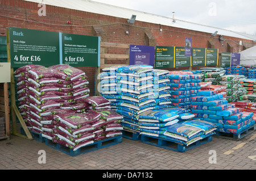
POLYGON ((69 65, 26 65, 14 75, 19 111, 30 131, 73 150, 121 133, 122 116, 110 112, 109 100, 89 96, 84 71, 69 65), (119 125, 108 125, 109 116, 119 125))

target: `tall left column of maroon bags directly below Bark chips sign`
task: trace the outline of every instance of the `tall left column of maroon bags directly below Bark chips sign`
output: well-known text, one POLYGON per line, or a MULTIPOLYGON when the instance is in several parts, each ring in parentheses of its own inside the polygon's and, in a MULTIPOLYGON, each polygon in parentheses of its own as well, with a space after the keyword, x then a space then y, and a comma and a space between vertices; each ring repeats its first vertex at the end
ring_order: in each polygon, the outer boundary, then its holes
POLYGON ((72 82, 63 71, 27 65, 15 70, 14 75, 19 111, 31 131, 42 133, 42 123, 51 124, 52 112, 73 104, 72 82))

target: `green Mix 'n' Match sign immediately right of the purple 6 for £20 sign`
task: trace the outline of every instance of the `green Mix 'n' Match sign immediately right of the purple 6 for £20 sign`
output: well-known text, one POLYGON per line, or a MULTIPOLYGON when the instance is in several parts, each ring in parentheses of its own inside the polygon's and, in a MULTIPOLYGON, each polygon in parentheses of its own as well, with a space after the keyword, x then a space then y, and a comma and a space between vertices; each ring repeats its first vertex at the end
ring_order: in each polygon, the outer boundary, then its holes
POLYGON ((175 47, 155 47, 155 68, 174 68, 175 47))

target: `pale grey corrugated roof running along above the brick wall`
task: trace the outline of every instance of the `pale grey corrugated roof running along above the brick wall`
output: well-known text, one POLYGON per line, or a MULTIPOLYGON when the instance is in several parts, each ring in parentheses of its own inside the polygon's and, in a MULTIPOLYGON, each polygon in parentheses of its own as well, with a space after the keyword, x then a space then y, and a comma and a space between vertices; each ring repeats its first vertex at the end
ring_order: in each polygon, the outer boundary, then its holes
MULTIPOLYGON (((42 2, 42 0, 23 0, 23 1, 30 1, 30 2, 36 2, 36 3, 42 2)), ((218 31, 217 33, 218 35, 237 37, 237 38, 247 39, 247 40, 256 40, 256 36, 254 35, 247 35, 245 33, 238 33, 238 32, 229 31, 221 28, 205 26, 203 24, 187 22, 179 19, 175 19, 176 21, 173 22, 172 21, 173 19, 170 17, 150 14, 147 12, 142 12, 137 10, 126 9, 123 7, 107 5, 105 3, 94 2, 89 0, 72 0, 72 1, 43 0, 43 3, 51 6, 65 7, 67 9, 93 12, 96 14, 115 16, 118 18, 125 18, 125 19, 130 19, 131 15, 134 14, 137 16, 136 20, 141 22, 162 24, 164 26, 171 26, 171 27, 183 28, 187 30, 194 30, 194 31, 200 31, 200 32, 207 32, 207 33, 214 33, 218 31)))

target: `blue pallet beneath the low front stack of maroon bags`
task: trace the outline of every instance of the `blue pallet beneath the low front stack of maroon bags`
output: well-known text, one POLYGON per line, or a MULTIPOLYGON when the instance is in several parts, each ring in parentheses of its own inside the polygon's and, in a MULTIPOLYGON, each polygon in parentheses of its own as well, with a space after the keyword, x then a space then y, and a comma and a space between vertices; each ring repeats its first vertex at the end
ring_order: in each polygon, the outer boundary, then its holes
POLYGON ((97 141, 97 142, 94 142, 93 144, 86 145, 84 147, 81 147, 81 148, 77 149, 76 151, 73 151, 72 149, 70 149, 66 146, 57 144, 55 142, 52 142, 51 140, 46 139, 46 145, 47 146, 50 146, 51 148, 55 148, 59 151, 62 151, 63 153, 71 155, 72 157, 75 157, 75 156, 80 155, 80 154, 88 153, 90 151, 105 148, 105 147, 108 147, 108 146, 112 146, 112 145, 115 145, 115 144, 119 144, 121 142, 122 142, 122 135, 115 136, 115 137, 108 138, 108 139, 101 140, 101 141, 97 141))

